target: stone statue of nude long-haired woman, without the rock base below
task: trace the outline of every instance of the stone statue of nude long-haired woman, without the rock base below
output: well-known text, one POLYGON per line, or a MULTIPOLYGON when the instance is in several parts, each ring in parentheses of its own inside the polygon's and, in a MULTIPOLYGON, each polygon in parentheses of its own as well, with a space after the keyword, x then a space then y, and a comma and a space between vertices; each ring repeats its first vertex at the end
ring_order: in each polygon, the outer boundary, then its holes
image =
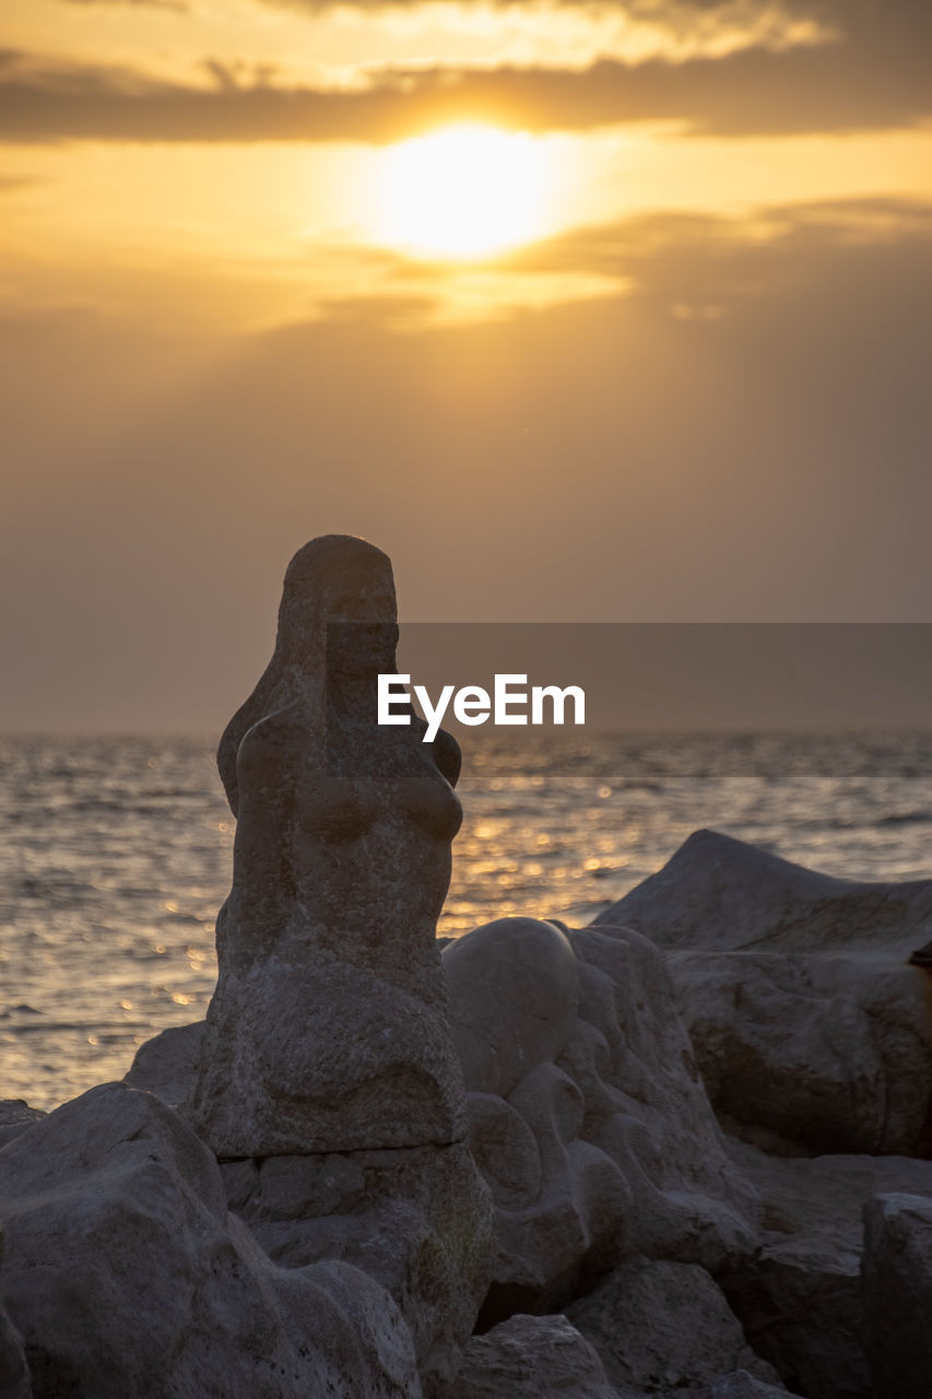
POLYGON ((417 716, 376 725, 396 644, 381 550, 329 534, 295 554, 274 655, 218 750, 234 879, 190 1112, 220 1157, 465 1136, 435 943, 459 748, 417 716))

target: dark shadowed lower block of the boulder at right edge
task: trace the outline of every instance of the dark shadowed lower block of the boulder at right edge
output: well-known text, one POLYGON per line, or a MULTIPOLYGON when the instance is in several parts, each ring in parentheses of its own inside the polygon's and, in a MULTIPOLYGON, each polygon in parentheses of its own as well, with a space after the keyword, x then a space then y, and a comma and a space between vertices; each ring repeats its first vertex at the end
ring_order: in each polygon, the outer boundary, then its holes
POLYGON ((712 1107, 802 1151, 932 1151, 926 975, 882 953, 672 953, 712 1107))

